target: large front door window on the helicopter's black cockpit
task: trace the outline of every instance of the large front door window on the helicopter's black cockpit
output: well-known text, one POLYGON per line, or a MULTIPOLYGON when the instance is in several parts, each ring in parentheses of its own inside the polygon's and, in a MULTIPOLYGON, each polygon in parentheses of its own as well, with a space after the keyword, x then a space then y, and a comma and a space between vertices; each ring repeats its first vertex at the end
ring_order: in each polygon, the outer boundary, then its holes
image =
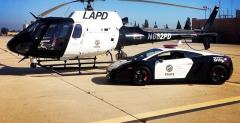
POLYGON ((38 49, 40 50, 62 50, 68 40, 71 29, 69 24, 51 24, 44 34, 38 49))

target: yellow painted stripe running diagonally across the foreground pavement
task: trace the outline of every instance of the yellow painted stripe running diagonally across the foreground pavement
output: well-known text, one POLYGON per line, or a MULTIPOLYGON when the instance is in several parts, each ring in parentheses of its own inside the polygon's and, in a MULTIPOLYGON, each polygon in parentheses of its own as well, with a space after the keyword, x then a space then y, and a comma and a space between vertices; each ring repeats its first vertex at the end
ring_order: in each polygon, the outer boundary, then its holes
MULTIPOLYGON (((236 97, 230 97, 230 98, 224 98, 219 100, 213 100, 203 103, 196 103, 196 104, 190 104, 185 106, 179 106, 174 108, 168 108, 168 109, 162 109, 157 111, 151 111, 141 114, 134 115, 138 119, 142 119, 142 122, 146 122, 146 119, 151 119, 154 117, 161 117, 161 116, 171 116, 171 114, 180 114, 180 113, 187 113, 187 111, 196 111, 197 109, 203 110, 208 108, 214 108, 218 106, 223 106, 224 104, 233 104, 233 103, 240 103, 240 96, 236 97), (145 120, 143 120, 145 119, 145 120)), ((124 116, 124 117, 118 117, 103 121, 97 121, 93 123, 119 123, 119 122, 137 122, 139 120, 134 119, 131 116, 124 116)))

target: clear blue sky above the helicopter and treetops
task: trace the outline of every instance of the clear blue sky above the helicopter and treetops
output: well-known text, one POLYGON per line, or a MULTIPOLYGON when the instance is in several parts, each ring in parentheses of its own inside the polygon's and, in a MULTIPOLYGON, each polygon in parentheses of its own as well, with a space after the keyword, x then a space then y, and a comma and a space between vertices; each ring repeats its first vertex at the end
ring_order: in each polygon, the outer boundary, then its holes
MULTIPOLYGON (((38 15, 41 12, 70 0, 0 0, 0 27, 8 27, 9 29, 21 29, 24 23, 29 23, 34 20, 29 12, 38 15)), ((158 0, 155 0, 158 1, 158 0)), ((183 4, 195 7, 203 7, 207 5, 213 8, 218 4, 219 0, 161 0, 161 2, 169 2, 175 4, 183 4)), ((230 8, 231 0, 221 0, 222 10, 227 12, 230 8)), ((235 9, 240 9, 240 0, 232 0, 233 14, 235 9)), ((129 21, 134 23, 137 21, 140 25, 145 19, 149 20, 150 26, 157 22, 159 27, 168 24, 170 28, 175 28, 177 20, 180 20, 182 25, 187 17, 190 18, 205 18, 205 12, 199 10, 191 10, 185 8, 176 8, 162 5, 154 5, 147 3, 132 3, 118 0, 106 0, 106 2, 95 2, 95 10, 111 10, 117 11, 121 17, 129 17, 129 21)), ((74 3, 65 6, 49 16, 68 16, 74 10, 83 10, 83 4, 74 3)), ((209 11, 207 12, 209 16, 209 11)))

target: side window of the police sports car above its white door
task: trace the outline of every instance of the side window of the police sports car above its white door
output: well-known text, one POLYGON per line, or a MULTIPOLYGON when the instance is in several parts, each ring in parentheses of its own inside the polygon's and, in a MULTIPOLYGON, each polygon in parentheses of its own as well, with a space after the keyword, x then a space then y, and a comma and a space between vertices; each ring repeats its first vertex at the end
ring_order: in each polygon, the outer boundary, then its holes
POLYGON ((161 60, 172 60, 172 59, 181 59, 181 58, 185 58, 184 53, 181 51, 164 52, 158 55, 158 59, 161 59, 161 60))

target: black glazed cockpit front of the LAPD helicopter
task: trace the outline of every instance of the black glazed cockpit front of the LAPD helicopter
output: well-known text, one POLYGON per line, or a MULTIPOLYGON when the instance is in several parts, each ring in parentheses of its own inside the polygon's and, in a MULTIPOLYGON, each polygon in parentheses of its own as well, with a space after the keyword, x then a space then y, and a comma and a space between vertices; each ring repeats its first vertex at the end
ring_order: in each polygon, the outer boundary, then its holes
POLYGON ((71 18, 42 18, 12 38, 7 46, 25 56, 59 58, 66 50, 72 30, 71 18))

